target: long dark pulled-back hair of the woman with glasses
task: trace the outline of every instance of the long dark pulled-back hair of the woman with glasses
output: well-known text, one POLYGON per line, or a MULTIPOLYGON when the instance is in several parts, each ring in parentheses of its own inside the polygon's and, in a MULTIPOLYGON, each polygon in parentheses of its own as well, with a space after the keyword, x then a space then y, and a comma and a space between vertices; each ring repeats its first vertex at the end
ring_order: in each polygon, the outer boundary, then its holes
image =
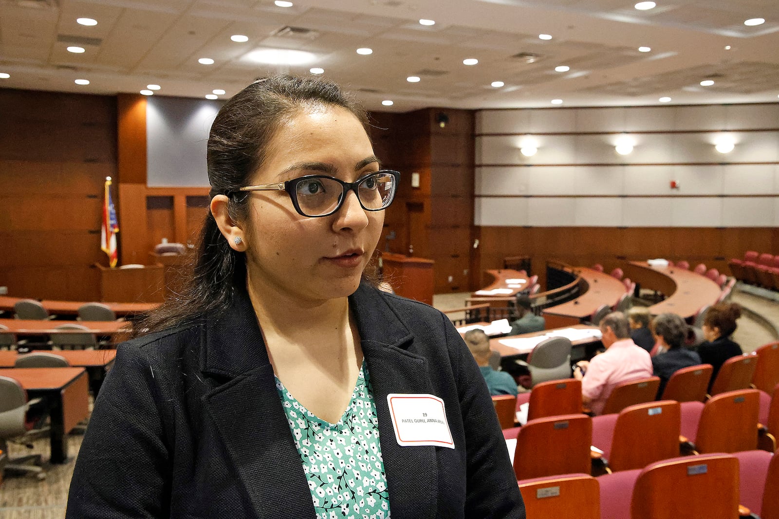
MULTIPOLYGON (((365 111, 351 97, 336 83, 319 78, 280 75, 262 79, 235 94, 220 109, 208 138, 208 180, 212 198, 225 195, 229 199, 227 214, 232 221, 240 223, 248 217, 248 196, 237 191, 248 185, 263 165, 270 139, 299 111, 316 106, 346 108, 367 125, 365 111)), ((245 290, 245 254, 230 247, 210 212, 196 256, 182 275, 189 280, 182 292, 140 321, 134 335, 218 315, 229 307, 237 289, 245 290)))

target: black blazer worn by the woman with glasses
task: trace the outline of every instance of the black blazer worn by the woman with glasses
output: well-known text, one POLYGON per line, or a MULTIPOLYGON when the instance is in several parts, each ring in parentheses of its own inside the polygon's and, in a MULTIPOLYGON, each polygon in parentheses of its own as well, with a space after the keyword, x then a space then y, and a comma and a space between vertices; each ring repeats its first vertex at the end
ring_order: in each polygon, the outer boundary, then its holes
MULTIPOLYGON (((525 517, 487 387, 446 316, 366 284, 349 301, 371 374, 391 517, 525 517), (441 397, 456 448, 400 447, 390 393, 441 397)), ((245 293, 219 318, 119 346, 66 517, 314 516, 245 293)))

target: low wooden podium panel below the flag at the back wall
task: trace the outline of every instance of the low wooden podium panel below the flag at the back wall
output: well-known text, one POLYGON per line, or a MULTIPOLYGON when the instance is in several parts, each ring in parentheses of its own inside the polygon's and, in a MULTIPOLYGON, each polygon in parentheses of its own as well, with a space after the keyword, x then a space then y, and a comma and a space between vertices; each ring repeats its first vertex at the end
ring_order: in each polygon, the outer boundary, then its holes
POLYGON ((132 269, 103 267, 100 270, 100 301, 163 302, 165 298, 164 267, 147 265, 132 269))

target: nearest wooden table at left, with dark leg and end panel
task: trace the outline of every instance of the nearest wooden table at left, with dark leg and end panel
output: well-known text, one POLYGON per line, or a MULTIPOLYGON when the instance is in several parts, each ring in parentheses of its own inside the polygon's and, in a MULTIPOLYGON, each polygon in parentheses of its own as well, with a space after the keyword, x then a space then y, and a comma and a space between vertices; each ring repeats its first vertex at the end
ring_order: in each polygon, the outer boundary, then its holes
POLYGON ((16 379, 27 396, 42 397, 51 417, 51 463, 68 459, 65 436, 89 414, 88 380, 83 368, 0 369, 0 376, 16 379))

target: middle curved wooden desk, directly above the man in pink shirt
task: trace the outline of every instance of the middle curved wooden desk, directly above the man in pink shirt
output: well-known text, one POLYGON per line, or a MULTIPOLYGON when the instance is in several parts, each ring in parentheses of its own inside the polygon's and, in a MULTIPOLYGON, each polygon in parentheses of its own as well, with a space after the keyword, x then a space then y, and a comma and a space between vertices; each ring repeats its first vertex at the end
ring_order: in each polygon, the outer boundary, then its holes
POLYGON ((576 267, 576 274, 587 283, 587 290, 562 305, 550 306, 543 316, 547 326, 566 327, 588 319, 601 305, 614 306, 626 288, 617 278, 587 267, 576 267))

